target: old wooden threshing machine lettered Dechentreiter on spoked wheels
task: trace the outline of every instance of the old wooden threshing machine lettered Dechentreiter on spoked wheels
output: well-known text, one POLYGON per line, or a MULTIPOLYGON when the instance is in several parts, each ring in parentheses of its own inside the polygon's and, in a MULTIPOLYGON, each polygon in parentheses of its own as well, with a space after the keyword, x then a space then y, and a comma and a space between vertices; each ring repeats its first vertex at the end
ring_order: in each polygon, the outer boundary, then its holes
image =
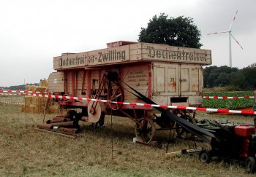
MULTIPOLYGON (((58 100, 59 105, 64 109, 81 109, 72 116, 95 126, 104 125, 106 114, 129 117, 135 122, 138 141, 146 143, 152 141, 157 130, 176 128, 178 135, 182 135, 184 128, 163 117, 161 111, 122 103, 145 103, 135 94, 139 93, 161 105, 201 106, 202 66, 211 64, 211 50, 125 41, 107 45, 102 50, 54 57, 56 72, 49 76, 49 91, 113 103, 58 100)), ((188 111, 167 111, 195 122, 188 111)))

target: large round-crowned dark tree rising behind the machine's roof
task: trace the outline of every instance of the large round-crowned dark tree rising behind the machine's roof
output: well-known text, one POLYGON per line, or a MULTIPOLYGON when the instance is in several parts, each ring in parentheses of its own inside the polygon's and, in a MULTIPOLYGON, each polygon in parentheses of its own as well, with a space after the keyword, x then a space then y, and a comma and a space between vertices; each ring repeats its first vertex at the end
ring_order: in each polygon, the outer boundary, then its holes
POLYGON ((147 28, 141 28, 138 41, 200 48, 200 36, 191 17, 168 18, 168 15, 162 13, 159 17, 154 15, 147 28))

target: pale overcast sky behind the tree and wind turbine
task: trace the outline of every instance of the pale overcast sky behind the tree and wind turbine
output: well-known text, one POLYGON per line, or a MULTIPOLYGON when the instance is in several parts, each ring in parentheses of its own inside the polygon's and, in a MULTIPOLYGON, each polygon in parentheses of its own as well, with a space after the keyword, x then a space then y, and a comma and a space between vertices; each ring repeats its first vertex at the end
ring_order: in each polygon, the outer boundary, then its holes
POLYGON ((9 0, 0 1, 0 87, 36 83, 53 72, 53 57, 64 52, 106 48, 106 43, 138 41, 154 15, 192 17, 201 31, 211 66, 229 65, 227 31, 232 34, 233 67, 255 63, 255 0, 9 0))

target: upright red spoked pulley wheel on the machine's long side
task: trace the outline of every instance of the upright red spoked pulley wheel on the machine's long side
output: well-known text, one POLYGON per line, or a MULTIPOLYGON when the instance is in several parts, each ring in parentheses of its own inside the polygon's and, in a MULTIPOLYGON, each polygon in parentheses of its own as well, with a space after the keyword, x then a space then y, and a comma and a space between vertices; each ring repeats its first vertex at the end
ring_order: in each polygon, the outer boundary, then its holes
MULTIPOLYGON (((113 102, 124 102, 124 90, 118 83, 111 82, 108 89, 108 100, 113 102)), ((110 103, 110 108, 113 110, 121 109, 123 104, 120 103, 110 103)))

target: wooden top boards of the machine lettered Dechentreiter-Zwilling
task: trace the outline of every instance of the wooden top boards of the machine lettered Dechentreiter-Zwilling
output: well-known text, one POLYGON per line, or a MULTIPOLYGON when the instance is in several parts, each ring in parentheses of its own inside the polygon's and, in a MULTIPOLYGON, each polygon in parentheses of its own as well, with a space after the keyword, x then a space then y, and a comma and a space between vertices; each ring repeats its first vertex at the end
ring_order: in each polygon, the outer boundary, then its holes
POLYGON ((63 53, 53 58, 53 68, 64 70, 142 60, 211 65, 211 50, 175 47, 144 42, 112 42, 108 48, 79 53, 63 53), (112 47, 111 47, 112 46, 112 47))

